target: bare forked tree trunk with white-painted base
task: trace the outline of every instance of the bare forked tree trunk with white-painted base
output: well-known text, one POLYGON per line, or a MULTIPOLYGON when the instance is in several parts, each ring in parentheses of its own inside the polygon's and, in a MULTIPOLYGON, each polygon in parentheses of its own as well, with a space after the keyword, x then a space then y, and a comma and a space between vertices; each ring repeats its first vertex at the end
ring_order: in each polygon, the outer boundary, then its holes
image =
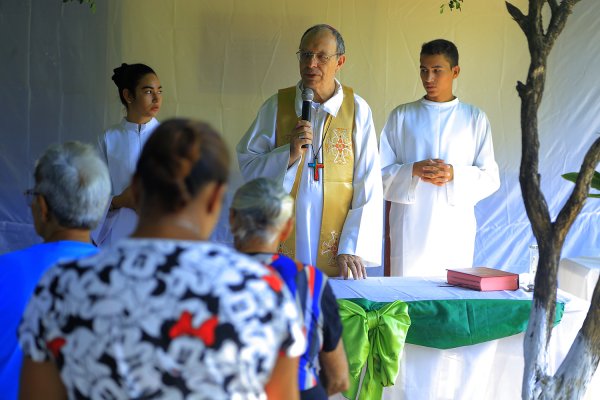
POLYGON ((540 189, 537 111, 542 101, 547 58, 569 14, 579 0, 529 0, 524 14, 506 2, 509 14, 527 37, 531 63, 526 83, 517 83, 521 98, 522 149, 519 182, 525 210, 539 247, 539 265, 529 326, 525 335, 523 399, 580 398, 600 360, 600 281, 590 311, 569 353, 554 376, 548 374, 547 348, 556 310, 557 271, 565 237, 583 208, 594 168, 600 161, 600 138, 588 150, 573 192, 556 221, 540 189), (550 21, 544 29, 542 9, 547 3, 550 21))

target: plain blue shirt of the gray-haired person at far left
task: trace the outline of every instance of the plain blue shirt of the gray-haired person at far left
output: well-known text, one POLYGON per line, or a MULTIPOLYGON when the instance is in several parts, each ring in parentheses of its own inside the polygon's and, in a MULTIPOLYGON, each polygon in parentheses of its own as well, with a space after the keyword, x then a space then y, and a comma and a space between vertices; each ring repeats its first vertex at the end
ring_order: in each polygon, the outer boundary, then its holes
POLYGON ((90 243, 59 241, 0 256, 0 393, 3 399, 18 397, 23 354, 17 341, 17 329, 38 281, 59 260, 81 258, 97 251, 90 243))

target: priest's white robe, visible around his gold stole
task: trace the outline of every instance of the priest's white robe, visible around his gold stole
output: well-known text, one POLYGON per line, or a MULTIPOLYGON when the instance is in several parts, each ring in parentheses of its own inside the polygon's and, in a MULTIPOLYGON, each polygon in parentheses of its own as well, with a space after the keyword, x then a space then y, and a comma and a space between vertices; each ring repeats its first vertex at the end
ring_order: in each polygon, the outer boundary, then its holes
MULTIPOLYGON (((296 115, 302 111, 301 83, 296 85, 296 115)), ((323 179, 314 180, 313 170, 308 163, 314 153, 319 153, 323 140, 323 129, 328 114, 336 116, 343 100, 343 90, 336 80, 336 91, 323 104, 312 103, 311 124, 313 127, 312 148, 288 168, 290 145, 275 147, 277 94, 270 97, 260 108, 250 129, 237 145, 240 171, 246 181, 266 177, 280 182, 286 191, 291 192, 300 163, 304 169, 298 185, 296 197, 296 258, 316 265, 321 217, 323 210, 323 179)), ((371 109, 358 95, 354 95, 354 178, 351 209, 344 222, 338 254, 360 256, 365 265, 381 265, 381 245, 383 229, 383 196, 381 170, 377 151, 377 136, 373 126, 371 109)), ((328 135, 331 133, 328 133, 328 135)), ((327 171, 321 171, 327 173, 327 171)))

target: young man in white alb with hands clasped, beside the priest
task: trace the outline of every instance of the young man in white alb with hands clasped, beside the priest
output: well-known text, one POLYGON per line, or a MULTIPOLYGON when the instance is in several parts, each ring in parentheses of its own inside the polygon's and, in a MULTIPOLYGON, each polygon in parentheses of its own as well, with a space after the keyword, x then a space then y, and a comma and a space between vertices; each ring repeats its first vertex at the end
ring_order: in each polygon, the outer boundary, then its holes
POLYGON ((392 276, 472 267, 475 204, 500 187, 485 113, 452 92, 460 73, 456 46, 425 43, 420 64, 425 97, 395 108, 381 134, 392 276))

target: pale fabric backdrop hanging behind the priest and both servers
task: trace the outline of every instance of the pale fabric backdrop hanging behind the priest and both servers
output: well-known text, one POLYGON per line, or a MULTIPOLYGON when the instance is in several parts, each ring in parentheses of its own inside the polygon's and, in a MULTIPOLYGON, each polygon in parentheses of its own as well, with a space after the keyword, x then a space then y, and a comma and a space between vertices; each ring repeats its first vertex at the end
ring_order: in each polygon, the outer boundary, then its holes
MULTIPOLYGON (((442 16, 439 0, 97 3, 95 14, 78 2, 0 3, 0 254, 39 241, 22 192, 33 184, 33 164, 42 151, 72 139, 95 143, 119 120, 122 107, 110 81, 115 66, 155 67, 166 88, 159 119, 208 120, 233 150, 260 103, 296 82, 291 57, 303 30, 325 21, 346 38, 348 62, 340 78, 370 103, 377 130, 398 103, 422 95, 420 44, 436 37, 458 44, 463 68, 457 94, 490 116, 502 181, 476 208, 475 264, 526 270, 534 239, 518 183, 520 100, 514 88, 525 78, 528 56, 503 1, 466 1, 462 13, 442 16), (310 11, 316 7, 323 16, 310 11)), ((599 42, 600 2, 583 0, 549 58, 539 110, 542 189, 553 217, 573 187, 560 175, 579 169, 600 132, 599 42)), ((239 178, 234 181, 232 190, 239 178)), ((590 199, 563 256, 598 256, 599 233, 600 200, 590 199)), ((227 236, 222 218, 216 237, 227 236)))

